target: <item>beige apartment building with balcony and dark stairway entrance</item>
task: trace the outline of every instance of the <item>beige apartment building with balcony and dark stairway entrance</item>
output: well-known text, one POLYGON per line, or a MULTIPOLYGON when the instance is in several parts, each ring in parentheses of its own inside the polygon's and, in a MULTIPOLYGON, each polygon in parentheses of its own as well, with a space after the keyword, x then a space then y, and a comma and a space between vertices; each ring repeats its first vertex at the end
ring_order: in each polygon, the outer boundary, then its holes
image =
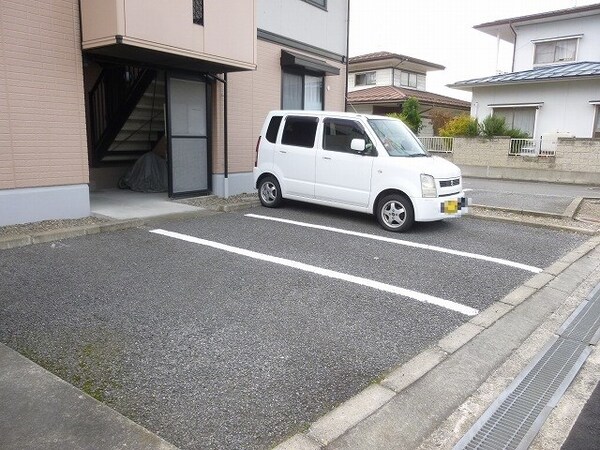
POLYGON ((251 192, 269 110, 344 109, 347 33, 348 0, 0 0, 0 226, 161 148, 165 197, 251 192))

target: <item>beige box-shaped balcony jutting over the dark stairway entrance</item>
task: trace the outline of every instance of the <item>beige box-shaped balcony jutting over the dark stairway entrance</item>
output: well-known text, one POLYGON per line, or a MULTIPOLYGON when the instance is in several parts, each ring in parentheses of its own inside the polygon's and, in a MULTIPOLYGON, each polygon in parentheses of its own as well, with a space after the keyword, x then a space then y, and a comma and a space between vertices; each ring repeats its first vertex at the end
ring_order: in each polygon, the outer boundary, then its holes
POLYGON ((195 72, 256 68, 256 0, 81 0, 87 54, 195 72))

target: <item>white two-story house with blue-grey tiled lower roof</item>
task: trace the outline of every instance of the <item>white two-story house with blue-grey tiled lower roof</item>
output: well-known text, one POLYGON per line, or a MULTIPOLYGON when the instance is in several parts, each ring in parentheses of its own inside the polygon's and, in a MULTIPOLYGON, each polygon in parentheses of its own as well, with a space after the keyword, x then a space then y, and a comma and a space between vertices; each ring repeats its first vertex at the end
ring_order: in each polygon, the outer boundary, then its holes
POLYGON ((514 50, 512 72, 450 86, 473 92, 473 117, 502 116, 542 142, 561 134, 600 138, 600 4, 474 28, 514 50))

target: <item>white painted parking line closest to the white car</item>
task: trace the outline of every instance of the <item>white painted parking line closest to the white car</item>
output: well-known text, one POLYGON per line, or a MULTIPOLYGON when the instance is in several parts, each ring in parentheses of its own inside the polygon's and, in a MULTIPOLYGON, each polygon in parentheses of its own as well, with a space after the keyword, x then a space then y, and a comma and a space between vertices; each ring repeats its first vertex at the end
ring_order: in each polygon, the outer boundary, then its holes
POLYGON ((526 270, 528 272, 533 272, 533 273, 541 273, 544 271, 544 269, 540 269, 539 267, 528 266, 527 264, 521 264, 521 263, 518 263, 515 261, 509 261, 508 259, 494 258, 491 256, 480 255, 478 253, 462 252, 460 250, 452 250, 449 248, 437 247, 435 245, 419 244, 418 242, 410 242, 410 241, 404 241, 401 239, 389 238, 389 237, 385 237, 385 236, 377 236, 377 235, 373 235, 373 234, 360 233, 358 231, 343 230, 341 228, 327 227, 324 225, 316 225, 316 224, 307 223, 307 222, 297 222, 295 220, 280 219, 278 217, 260 216, 258 214, 246 214, 246 217, 251 217, 253 219, 261 219, 261 220, 271 220, 274 222, 287 223, 289 225, 297 225, 297 226, 305 227, 305 228, 314 228, 317 230, 332 231, 334 233, 347 234, 350 236, 358 236, 358 237, 363 237, 363 238, 367 238, 367 239, 373 239, 376 241, 383 241, 383 242, 389 242, 392 244, 404 245, 406 247, 414 247, 414 248, 421 248, 424 250, 431 250, 434 252, 448 253, 450 255, 463 256, 465 258, 479 259, 481 261, 488 261, 488 262, 493 262, 496 264, 502 264, 504 266, 514 267, 517 269, 522 269, 522 270, 526 270))

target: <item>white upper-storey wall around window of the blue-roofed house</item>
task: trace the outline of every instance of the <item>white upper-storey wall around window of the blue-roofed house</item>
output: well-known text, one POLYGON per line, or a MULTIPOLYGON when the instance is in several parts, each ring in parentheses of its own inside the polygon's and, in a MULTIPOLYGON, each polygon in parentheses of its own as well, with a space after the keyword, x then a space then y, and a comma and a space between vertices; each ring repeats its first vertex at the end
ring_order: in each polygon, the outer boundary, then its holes
POLYGON ((579 41, 577 61, 600 61, 600 15, 536 23, 516 27, 514 72, 533 67, 535 45, 532 41, 583 35, 579 41))

